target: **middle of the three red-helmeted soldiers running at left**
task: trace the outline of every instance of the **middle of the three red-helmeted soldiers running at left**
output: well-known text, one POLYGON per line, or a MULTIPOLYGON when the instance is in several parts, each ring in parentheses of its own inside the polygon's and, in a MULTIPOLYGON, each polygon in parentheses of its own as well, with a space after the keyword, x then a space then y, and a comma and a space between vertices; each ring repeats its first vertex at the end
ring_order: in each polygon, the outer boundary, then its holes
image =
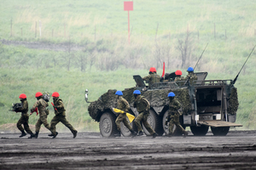
POLYGON ((41 92, 38 92, 36 94, 36 98, 38 99, 38 101, 33 105, 30 115, 32 115, 32 112, 38 107, 39 119, 36 123, 35 133, 35 138, 38 139, 38 133, 42 124, 44 124, 44 127, 49 129, 49 124, 47 122, 47 116, 49 115, 49 111, 46 109, 46 107, 48 107, 48 103, 43 99, 43 94, 41 92))

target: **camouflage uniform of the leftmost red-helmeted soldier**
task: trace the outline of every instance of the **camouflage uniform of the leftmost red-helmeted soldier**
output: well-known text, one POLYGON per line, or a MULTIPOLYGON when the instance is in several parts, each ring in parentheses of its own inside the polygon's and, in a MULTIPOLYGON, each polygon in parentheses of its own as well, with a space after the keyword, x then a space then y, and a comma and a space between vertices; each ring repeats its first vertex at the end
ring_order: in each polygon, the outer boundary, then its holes
POLYGON ((19 128, 19 130, 21 131, 21 133, 24 133, 24 128, 26 130, 26 133, 30 133, 32 134, 31 129, 28 126, 28 104, 26 99, 21 99, 21 103, 22 103, 22 108, 19 109, 19 111, 21 111, 21 116, 19 121, 17 122, 17 127, 19 128), (23 124, 24 128, 21 126, 23 124))

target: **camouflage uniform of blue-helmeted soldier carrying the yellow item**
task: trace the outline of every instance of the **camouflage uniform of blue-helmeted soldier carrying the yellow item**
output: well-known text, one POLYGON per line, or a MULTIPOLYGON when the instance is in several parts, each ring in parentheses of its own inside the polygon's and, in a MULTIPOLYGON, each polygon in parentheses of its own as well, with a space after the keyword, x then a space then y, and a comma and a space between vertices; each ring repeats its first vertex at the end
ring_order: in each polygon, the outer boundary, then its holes
MULTIPOLYGON (((130 109, 130 105, 126 99, 124 99, 122 96, 119 96, 117 101, 117 108, 121 111, 128 112, 130 109)), ((132 131, 132 127, 127 121, 125 113, 120 113, 117 119, 115 120, 115 124, 117 126, 118 131, 120 131, 121 122, 124 122, 125 127, 127 127, 130 131, 132 131)))

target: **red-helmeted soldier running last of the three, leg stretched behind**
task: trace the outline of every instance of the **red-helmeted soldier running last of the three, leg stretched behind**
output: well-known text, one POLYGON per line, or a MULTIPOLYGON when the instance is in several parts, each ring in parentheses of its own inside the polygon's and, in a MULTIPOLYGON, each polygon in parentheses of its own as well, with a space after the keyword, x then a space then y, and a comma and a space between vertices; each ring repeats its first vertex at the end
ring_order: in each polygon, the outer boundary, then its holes
POLYGON ((55 139, 55 137, 58 134, 56 132, 56 125, 59 122, 62 122, 73 133, 73 138, 76 138, 78 131, 74 129, 74 127, 66 119, 66 110, 64 108, 62 99, 59 98, 60 94, 58 92, 54 92, 51 96, 53 97, 55 116, 52 118, 50 122, 50 130, 52 133, 49 134, 48 136, 53 136, 53 139, 55 139))

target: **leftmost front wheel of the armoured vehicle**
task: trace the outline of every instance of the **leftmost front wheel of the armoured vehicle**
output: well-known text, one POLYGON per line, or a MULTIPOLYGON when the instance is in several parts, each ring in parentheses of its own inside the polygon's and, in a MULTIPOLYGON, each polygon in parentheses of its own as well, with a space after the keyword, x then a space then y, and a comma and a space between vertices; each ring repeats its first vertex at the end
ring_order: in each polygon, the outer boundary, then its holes
POLYGON ((100 132, 102 137, 111 137, 113 134, 118 133, 116 124, 116 116, 113 113, 105 112, 100 119, 100 132))

